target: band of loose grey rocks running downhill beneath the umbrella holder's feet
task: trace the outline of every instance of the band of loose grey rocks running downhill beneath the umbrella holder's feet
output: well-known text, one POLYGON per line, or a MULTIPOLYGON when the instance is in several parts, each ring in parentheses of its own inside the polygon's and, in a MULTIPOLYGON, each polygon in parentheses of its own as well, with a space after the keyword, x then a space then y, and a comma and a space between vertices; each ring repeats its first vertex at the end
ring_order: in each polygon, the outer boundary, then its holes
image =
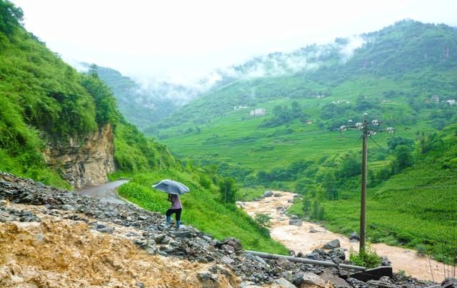
MULTIPOLYGON (((262 259, 253 254, 244 254, 238 239, 227 238, 221 241, 200 232, 193 227, 184 229, 166 227, 164 215, 148 212, 133 204, 111 204, 101 202, 82 194, 56 189, 30 179, 14 177, 0 172, 0 222, 39 221, 32 212, 19 211, 6 207, 5 203, 39 205, 31 209, 43 215, 85 222, 96 232, 120 235, 144 249, 149 254, 172 256, 179 259, 208 264, 206 271, 199 272, 198 278, 204 287, 220 286, 219 279, 231 279, 230 273, 241 279, 241 287, 271 284, 282 287, 304 287, 306 285, 336 287, 381 287, 373 282, 368 284, 348 278, 348 272, 341 269, 328 269, 312 264, 290 262, 287 259, 262 259), (3 217, 3 218, 1 218, 3 217), (226 275, 227 277, 221 277, 226 275), (371 285, 371 286, 370 286, 371 285)), ((21 206, 21 207, 24 207, 21 206)), ((316 249, 311 254, 298 253, 295 257, 346 263, 342 249, 333 248, 326 252, 316 249)), ((398 276, 396 276, 398 277, 398 276)), ((392 278, 392 284, 384 287, 425 287, 424 282, 410 278, 392 278)), ((232 279, 233 280, 233 279, 232 279)), ((227 287, 236 286, 236 281, 227 287)))

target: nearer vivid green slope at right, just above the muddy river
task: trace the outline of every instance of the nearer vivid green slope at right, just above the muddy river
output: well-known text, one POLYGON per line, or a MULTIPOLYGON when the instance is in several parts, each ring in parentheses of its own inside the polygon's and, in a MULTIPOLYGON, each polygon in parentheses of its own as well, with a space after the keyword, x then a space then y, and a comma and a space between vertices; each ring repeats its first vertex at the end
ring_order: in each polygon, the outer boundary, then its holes
MULTIPOLYGON (((367 237, 371 242, 418 249, 443 261, 455 256, 457 239, 457 124, 420 147, 412 167, 368 188, 367 237)), ((320 202, 326 227, 343 234, 358 231, 358 193, 337 202, 322 197, 320 202)), ((312 217, 313 208, 306 213, 303 204, 296 202, 289 212, 312 217)))

